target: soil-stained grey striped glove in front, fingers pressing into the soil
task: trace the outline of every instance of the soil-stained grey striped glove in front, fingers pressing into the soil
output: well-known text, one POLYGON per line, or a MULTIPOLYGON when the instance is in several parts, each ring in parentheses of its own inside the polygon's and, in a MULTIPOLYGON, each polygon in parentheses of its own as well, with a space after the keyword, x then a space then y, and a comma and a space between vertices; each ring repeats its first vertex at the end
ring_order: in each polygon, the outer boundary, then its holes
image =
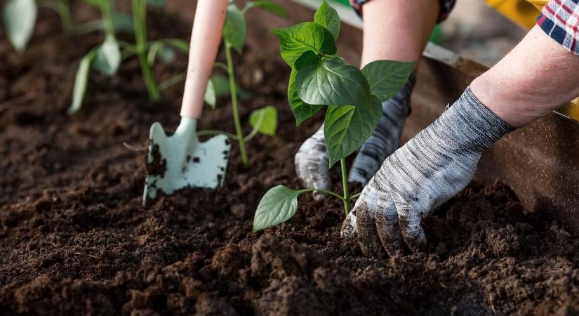
POLYGON ((404 242, 420 251, 420 222, 472 179, 481 152, 514 128, 470 91, 406 145, 390 155, 364 187, 342 225, 342 237, 358 236, 365 256, 390 256, 404 242))

